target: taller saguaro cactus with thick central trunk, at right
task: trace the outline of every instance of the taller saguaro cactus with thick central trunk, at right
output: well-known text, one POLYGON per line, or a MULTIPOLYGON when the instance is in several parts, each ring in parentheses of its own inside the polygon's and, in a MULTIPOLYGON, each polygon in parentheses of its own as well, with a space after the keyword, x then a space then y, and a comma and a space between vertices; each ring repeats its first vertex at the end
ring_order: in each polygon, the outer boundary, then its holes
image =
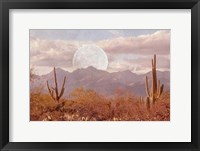
POLYGON ((146 94, 147 94, 147 107, 150 108, 150 102, 153 104, 158 100, 163 92, 164 85, 160 86, 160 80, 157 81, 156 75, 156 55, 154 54, 154 58, 152 59, 152 85, 151 92, 149 91, 148 86, 148 77, 146 76, 146 94))

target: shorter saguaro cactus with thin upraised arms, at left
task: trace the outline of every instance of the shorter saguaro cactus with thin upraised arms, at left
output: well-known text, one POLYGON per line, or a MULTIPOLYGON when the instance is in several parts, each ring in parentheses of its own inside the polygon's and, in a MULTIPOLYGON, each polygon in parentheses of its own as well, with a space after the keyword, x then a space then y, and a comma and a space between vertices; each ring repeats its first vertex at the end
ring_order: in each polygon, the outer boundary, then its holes
POLYGON ((59 100, 60 100, 60 98, 62 97, 62 95, 64 94, 64 91, 65 91, 65 88, 64 88, 64 86, 65 86, 65 80, 66 80, 66 76, 64 77, 60 94, 58 93, 58 83, 57 83, 57 77, 56 77, 56 69, 55 69, 55 67, 54 67, 54 82, 55 82, 55 87, 51 87, 51 89, 50 89, 49 82, 47 80, 47 88, 48 88, 49 94, 52 97, 52 99, 55 100, 58 103, 59 103, 59 100))

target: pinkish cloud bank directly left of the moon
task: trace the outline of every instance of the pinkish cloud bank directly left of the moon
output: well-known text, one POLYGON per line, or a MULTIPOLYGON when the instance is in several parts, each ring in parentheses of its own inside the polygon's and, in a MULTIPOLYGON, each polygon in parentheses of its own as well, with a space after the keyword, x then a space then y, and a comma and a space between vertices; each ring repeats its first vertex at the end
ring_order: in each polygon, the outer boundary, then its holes
POLYGON ((74 52, 79 44, 64 40, 30 38, 30 62, 34 66, 71 67, 74 52))

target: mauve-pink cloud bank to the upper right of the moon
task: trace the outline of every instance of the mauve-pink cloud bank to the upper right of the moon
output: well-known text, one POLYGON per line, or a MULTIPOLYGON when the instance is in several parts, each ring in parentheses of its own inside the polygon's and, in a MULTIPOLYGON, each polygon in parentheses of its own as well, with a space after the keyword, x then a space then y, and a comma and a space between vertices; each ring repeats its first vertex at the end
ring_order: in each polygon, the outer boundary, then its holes
POLYGON ((97 43, 107 53, 134 53, 152 55, 169 54, 170 31, 161 30, 153 34, 136 37, 118 37, 102 40, 97 43))

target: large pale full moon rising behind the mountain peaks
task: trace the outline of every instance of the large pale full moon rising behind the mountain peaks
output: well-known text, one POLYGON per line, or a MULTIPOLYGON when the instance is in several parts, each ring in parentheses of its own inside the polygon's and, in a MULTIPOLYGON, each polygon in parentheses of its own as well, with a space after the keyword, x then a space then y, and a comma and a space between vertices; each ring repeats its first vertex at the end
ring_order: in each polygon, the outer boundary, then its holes
POLYGON ((84 45, 80 47, 73 57, 73 68, 87 68, 93 66, 99 70, 106 70, 108 57, 103 49, 97 45, 84 45))

